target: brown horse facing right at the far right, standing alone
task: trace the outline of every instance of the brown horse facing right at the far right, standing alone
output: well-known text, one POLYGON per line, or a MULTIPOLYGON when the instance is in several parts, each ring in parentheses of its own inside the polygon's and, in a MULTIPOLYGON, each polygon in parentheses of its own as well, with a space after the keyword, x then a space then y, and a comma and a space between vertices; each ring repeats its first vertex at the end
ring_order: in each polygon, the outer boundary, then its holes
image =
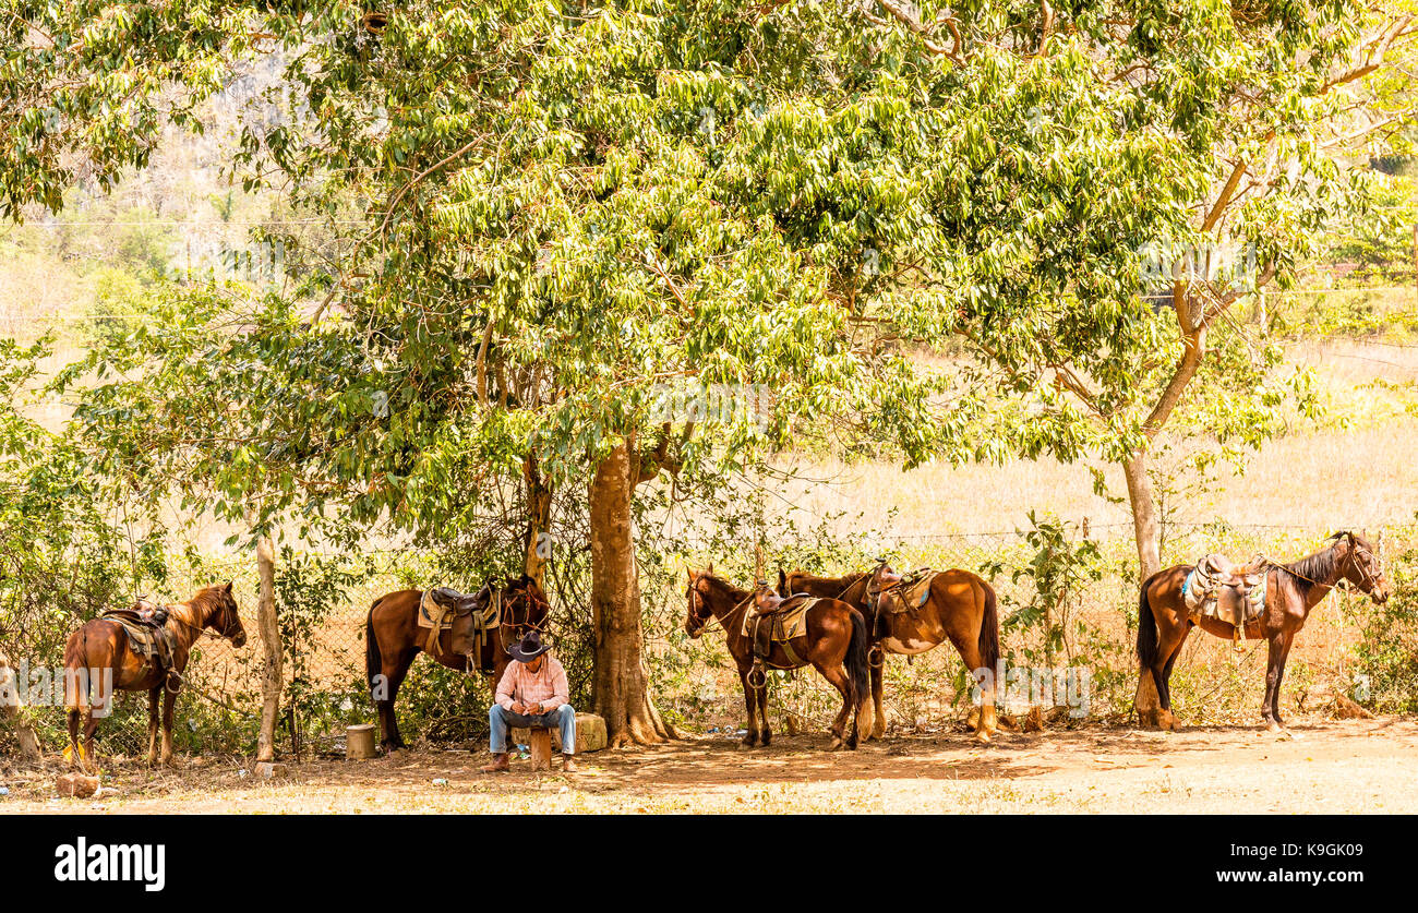
MULTIPOLYGON (((1367 593, 1374 603, 1388 598, 1388 581, 1384 567, 1368 543, 1354 533, 1341 532, 1330 536, 1330 544, 1314 554, 1290 564, 1266 563, 1265 610, 1261 617, 1245 624, 1248 639, 1269 641, 1269 656, 1265 671, 1265 700, 1261 716, 1266 729, 1285 732, 1280 722, 1280 679, 1285 676, 1285 659, 1290 654, 1295 635, 1305 627, 1310 610, 1329 594, 1341 580, 1367 593)), ((1151 673, 1157 685, 1160 709, 1156 719, 1147 715, 1143 724, 1163 729, 1180 729, 1171 713, 1171 666, 1181 654, 1181 645, 1193 627, 1207 634, 1231 639, 1234 628, 1217 618, 1194 615, 1183 595, 1183 584, 1190 566, 1178 564, 1157 571, 1143 581, 1137 603, 1137 661, 1141 675, 1151 673)))

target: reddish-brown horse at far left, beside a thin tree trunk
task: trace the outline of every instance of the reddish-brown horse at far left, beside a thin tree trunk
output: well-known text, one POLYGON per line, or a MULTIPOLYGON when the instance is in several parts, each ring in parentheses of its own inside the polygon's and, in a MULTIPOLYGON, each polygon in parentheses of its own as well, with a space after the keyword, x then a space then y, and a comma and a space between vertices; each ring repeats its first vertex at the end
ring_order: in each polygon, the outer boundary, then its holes
POLYGON ((157 763, 157 699, 163 699, 163 750, 162 763, 173 760, 173 705, 182 690, 182 673, 187 669, 191 645, 204 629, 216 631, 218 637, 231 641, 233 646, 244 646, 245 628, 237 612, 237 600, 231 584, 206 587, 186 603, 164 605, 167 620, 163 622, 173 634, 172 669, 159 669, 132 651, 128 634, 116 621, 95 618, 84 622, 69 635, 64 645, 64 706, 69 722, 69 758, 84 768, 96 771, 98 757, 94 754, 94 733, 98 732, 99 716, 108 716, 113 709, 113 690, 146 690, 147 707, 147 763, 157 763), (173 675, 176 673, 176 675, 173 675), (84 747, 79 746, 79 720, 84 722, 84 747))

